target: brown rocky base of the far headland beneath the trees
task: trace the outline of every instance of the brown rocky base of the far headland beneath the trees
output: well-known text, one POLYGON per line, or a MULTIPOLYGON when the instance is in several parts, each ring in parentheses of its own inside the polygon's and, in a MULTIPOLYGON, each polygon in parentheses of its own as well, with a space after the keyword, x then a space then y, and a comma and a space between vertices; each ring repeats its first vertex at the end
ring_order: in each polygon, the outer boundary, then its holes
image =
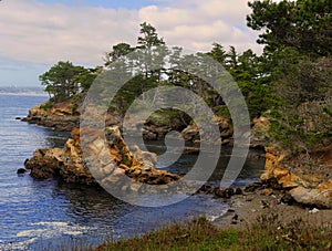
MULTIPOLYGON (((50 101, 39 104, 29 111, 29 115, 22 121, 29 122, 31 124, 37 124, 45 126, 55 130, 71 132, 74 128, 80 127, 80 112, 81 112, 82 101, 63 101, 52 104, 50 101)), ((86 107, 86 117, 89 113, 98 114, 95 107, 86 107)), ((100 119, 105 119, 107 126, 117 125, 122 123, 122 116, 115 113, 107 113, 106 118, 101 117, 100 119)), ((220 139, 218 139, 222 145, 232 143, 234 128, 230 118, 222 118, 215 115, 212 121, 218 124, 220 130, 220 139)), ((147 121, 142 121, 142 117, 136 117, 131 119, 128 123, 126 133, 142 132, 144 139, 147 140, 158 140, 163 139, 165 135, 172 130, 180 132, 185 140, 191 143, 199 143, 199 136, 204 134, 204 128, 199 132, 199 128, 195 123, 189 123, 190 119, 184 115, 173 116, 172 113, 166 114, 154 114, 147 121)), ((92 124, 94 122, 91 122, 92 124)), ((266 145, 267 129, 269 127, 269 121, 266 117, 259 117, 252 122, 252 134, 251 134, 251 147, 263 148, 266 145)), ((215 139, 212 139, 215 142, 215 139)))

